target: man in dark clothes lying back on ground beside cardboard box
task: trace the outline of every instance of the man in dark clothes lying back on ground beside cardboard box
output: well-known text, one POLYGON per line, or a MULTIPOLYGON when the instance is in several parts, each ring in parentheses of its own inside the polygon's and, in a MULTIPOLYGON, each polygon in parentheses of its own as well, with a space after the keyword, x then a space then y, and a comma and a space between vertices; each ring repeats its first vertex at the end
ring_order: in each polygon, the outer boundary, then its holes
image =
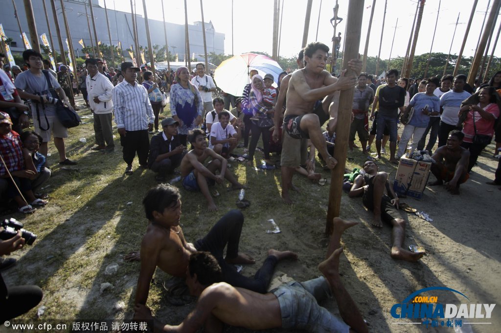
POLYGON ((411 252, 404 249, 405 220, 398 212, 398 197, 388 181, 388 173, 378 172, 376 162, 364 162, 365 174, 359 174, 348 193, 349 197, 362 196, 367 209, 373 212, 372 225, 382 227, 382 220, 393 226, 391 238, 391 257, 399 260, 417 261, 423 252, 411 252), (387 194, 385 194, 385 189, 387 194))

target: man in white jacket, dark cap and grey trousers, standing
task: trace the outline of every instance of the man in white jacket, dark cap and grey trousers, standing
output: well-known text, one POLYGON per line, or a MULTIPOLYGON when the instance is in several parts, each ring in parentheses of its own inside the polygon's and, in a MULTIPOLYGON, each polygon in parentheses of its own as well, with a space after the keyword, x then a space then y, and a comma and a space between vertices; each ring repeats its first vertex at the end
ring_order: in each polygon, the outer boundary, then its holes
POLYGON ((113 83, 98 71, 97 59, 86 59, 85 66, 89 72, 85 83, 89 105, 94 115, 94 133, 97 144, 92 150, 113 151, 115 149, 111 125, 113 83))

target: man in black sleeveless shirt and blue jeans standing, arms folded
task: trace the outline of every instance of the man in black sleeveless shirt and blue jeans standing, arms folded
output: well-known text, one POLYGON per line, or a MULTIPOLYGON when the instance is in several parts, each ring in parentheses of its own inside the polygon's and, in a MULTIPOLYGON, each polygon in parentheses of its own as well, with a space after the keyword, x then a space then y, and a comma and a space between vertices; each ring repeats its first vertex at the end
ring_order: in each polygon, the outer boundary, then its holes
POLYGON ((395 158, 397 146, 398 108, 404 105, 405 89, 396 84, 398 70, 390 69, 386 73, 386 86, 379 91, 379 112, 377 116, 376 149, 381 157, 381 139, 385 125, 390 130, 390 162, 398 164, 395 158))

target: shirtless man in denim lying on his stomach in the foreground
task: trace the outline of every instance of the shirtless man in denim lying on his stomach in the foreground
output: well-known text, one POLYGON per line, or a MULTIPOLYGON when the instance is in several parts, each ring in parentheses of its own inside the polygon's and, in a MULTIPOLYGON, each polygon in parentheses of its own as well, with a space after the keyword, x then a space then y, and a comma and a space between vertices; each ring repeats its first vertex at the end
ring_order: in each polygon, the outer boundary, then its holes
POLYGON ((144 305, 136 305, 137 319, 154 319, 155 332, 222 331, 222 323, 252 330, 284 328, 310 332, 367 332, 357 305, 339 275, 340 245, 344 230, 356 222, 334 219, 327 256, 318 268, 324 275, 306 282, 291 281, 266 294, 259 294, 220 281, 217 261, 206 252, 191 254, 186 284, 198 296, 196 307, 177 326, 163 325, 144 305), (318 301, 334 296, 342 320, 321 307, 318 301))

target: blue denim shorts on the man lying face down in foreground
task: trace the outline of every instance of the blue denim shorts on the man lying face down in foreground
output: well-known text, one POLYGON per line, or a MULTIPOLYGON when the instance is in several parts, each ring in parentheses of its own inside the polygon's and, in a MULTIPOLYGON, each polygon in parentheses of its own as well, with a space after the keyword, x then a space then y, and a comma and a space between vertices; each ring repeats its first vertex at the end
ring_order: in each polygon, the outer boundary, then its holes
POLYGON ((272 290, 282 313, 282 328, 304 329, 309 332, 348 332, 348 326, 318 301, 331 296, 325 277, 306 282, 291 281, 272 290))

